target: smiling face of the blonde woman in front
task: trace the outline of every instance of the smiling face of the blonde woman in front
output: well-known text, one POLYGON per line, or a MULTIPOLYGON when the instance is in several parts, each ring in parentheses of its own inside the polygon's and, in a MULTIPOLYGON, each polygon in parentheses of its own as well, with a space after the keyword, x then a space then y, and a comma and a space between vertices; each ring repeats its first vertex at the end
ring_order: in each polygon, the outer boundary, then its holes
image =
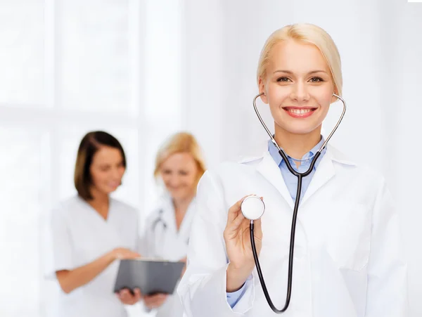
POLYGON ((260 93, 269 104, 276 134, 321 134, 321 124, 335 101, 324 56, 316 46, 294 40, 272 48, 265 78, 260 78, 260 93))

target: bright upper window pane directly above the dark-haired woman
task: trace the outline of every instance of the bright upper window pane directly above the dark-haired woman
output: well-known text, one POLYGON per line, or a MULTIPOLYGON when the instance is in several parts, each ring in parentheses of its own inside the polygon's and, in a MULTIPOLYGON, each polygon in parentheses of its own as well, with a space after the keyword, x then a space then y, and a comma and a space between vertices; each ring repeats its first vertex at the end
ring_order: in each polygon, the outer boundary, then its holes
POLYGON ((60 103, 72 110, 127 111, 127 1, 58 3, 60 103))

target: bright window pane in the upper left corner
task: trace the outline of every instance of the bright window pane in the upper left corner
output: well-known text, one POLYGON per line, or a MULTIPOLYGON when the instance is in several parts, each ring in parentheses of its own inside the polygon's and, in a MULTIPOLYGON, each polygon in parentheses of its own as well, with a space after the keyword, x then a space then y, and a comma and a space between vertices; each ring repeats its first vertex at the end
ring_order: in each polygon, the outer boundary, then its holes
POLYGON ((0 103, 44 103, 44 1, 0 1, 0 103))

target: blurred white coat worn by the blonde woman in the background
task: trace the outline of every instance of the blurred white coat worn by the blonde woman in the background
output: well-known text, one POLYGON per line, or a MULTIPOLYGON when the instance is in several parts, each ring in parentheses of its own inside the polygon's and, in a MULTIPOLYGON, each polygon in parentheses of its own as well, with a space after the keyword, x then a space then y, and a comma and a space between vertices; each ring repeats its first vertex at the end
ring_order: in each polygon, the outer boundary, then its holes
MULTIPOLYGON (((145 233, 141 242, 141 254, 144 257, 179 261, 186 257, 188 240, 193 216, 196 212, 196 200, 193 199, 181 226, 177 231, 174 205, 168 193, 162 195, 158 206, 146 220, 145 233)), ((156 317, 182 317, 183 309, 176 290, 165 304, 155 309, 156 317)))

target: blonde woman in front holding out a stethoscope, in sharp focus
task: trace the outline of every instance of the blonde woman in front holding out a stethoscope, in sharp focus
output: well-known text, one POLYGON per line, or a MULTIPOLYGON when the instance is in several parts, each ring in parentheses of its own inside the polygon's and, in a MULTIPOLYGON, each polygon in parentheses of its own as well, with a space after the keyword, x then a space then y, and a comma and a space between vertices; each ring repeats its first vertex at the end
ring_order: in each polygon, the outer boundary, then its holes
MULTIPOLYGON (((307 171, 324 143, 321 124, 342 85, 337 47, 320 27, 288 25, 264 44, 257 86, 271 110, 276 143, 297 172, 307 171)), ((255 244, 272 302, 283 308, 297 184, 271 142, 262 157, 204 174, 178 290, 187 317, 276 316, 257 277, 250 221, 241 212, 251 194, 266 206, 255 221, 255 244)), ((303 179, 300 197, 284 316, 407 316, 407 265, 383 177, 328 144, 303 179)))

